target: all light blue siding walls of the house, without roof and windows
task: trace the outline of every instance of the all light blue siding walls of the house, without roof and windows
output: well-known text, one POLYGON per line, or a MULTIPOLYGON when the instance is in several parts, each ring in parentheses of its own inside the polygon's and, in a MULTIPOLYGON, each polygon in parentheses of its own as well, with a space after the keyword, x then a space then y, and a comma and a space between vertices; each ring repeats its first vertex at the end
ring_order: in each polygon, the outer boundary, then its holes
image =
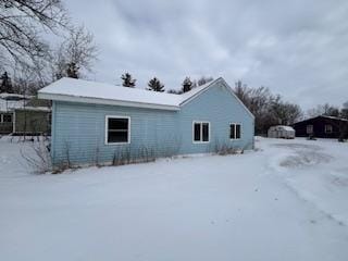
POLYGON ((224 85, 183 105, 181 111, 141 109, 54 101, 52 109, 52 158, 59 164, 103 163, 115 151, 128 150, 133 158, 145 148, 156 157, 204 153, 216 144, 250 149, 253 146, 253 117, 224 85), (130 144, 105 145, 105 116, 130 117, 130 144), (210 122, 210 142, 192 142, 192 122, 210 122), (229 123, 241 124, 241 139, 229 140, 229 123))

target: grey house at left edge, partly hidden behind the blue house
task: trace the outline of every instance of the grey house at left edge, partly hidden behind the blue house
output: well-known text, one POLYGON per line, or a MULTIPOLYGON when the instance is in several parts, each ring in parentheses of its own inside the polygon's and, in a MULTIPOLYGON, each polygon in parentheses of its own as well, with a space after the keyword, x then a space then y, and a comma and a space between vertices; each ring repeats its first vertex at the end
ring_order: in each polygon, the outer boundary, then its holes
POLYGON ((0 94, 0 135, 38 135, 51 132, 51 108, 32 96, 0 94))

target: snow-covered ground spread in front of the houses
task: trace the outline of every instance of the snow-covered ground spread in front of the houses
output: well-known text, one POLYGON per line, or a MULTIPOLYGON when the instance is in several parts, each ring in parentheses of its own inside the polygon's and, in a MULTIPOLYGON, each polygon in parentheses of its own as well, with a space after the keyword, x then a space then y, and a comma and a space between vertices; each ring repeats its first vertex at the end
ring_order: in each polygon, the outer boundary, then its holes
POLYGON ((348 260, 348 144, 34 175, 0 139, 0 259, 348 260))

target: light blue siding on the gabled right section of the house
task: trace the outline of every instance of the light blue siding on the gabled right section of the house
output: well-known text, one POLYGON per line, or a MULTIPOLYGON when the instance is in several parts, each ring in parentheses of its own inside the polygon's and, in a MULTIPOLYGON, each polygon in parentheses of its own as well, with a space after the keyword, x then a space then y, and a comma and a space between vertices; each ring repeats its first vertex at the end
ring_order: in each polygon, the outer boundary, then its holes
POLYGON ((253 116, 223 84, 209 88, 181 110, 181 154, 212 152, 216 147, 228 146, 239 149, 253 147, 253 116), (210 142, 192 142, 192 122, 210 123, 210 142), (241 124, 241 138, 229 139, 229 124, 241 124))

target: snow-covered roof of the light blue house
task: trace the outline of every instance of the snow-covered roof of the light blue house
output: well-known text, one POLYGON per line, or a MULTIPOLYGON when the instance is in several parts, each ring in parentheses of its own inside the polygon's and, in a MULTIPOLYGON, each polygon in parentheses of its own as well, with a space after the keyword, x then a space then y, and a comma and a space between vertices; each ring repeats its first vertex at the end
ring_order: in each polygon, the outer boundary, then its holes
MULTIPOLYGON (((61 78, 40 89, 38 97, 47 100, 179 110, 181 105, 194 99, 217 82, 224 83, 225 86, 231 89, 221 77, 182 95, 149 91, 140 88, 125 88, 123 86, 85 79, 61 78)), ((249 112, 248 109, 246 110, 249 112)))

